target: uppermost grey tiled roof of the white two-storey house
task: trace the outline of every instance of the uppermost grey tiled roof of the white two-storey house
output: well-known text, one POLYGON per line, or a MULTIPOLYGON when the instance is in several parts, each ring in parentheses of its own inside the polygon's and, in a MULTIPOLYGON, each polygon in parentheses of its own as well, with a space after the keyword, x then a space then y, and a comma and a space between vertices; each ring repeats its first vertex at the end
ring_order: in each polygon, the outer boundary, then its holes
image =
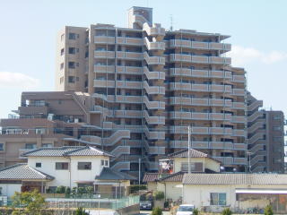
POLYGON ((30 150, 22 154, 24 157, 62 157, 62 156, 109 156, 106 151, 91 146, 64 146, 30 150))

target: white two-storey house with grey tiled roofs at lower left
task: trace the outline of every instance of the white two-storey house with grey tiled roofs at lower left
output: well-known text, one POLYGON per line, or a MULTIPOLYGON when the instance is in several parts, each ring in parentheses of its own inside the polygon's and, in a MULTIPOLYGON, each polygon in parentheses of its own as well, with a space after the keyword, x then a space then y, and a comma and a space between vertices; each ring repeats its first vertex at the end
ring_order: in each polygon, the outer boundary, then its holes
POLYGON ((93 187, 93 193, 119 197, 128 193, 134 176, 109 168, 113 155, 90 146, 53 147, 23 153, 27 164, 0 169, 4 195, 15 191, 39 190, 46 193, 57 186, 93 187))

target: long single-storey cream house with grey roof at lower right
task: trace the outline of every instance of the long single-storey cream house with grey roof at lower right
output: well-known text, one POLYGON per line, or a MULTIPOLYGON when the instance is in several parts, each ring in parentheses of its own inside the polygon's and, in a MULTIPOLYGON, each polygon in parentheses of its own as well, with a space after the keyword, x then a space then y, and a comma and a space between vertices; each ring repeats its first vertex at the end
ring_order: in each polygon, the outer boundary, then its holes
POLYGON ((276 213, 287 212, 287 175, 185 174, 183 202, 204 211, 263 210, 271 204, 276 213))

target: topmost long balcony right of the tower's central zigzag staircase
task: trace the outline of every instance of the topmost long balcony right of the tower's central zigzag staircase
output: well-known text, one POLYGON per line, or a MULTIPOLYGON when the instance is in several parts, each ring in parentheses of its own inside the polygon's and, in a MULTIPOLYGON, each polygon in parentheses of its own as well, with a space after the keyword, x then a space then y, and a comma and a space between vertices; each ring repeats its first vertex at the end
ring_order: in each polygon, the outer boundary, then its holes
POLYGON ((204 49, 204 50, 222 50, 230 51, 231 45, 225 43, 216 42, 199 42, 181 39, 170 39, 170 47, 187 47, 193 49, 204 49))

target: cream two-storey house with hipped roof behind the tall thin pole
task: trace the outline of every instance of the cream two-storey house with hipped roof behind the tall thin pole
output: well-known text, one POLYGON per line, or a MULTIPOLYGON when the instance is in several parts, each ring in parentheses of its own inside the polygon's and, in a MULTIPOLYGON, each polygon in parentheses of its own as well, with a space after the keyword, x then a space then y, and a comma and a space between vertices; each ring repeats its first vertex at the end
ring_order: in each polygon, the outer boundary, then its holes
MULTIPOLYGON (((221 162, 199 150, 189 150, 190 172, 219 172, 221 162)), ((182 198, 182 178, 188 172, 188 150, 180 150, 161 159, 160 173, 146 173, 143 183, 149 191, 162 191, 166 200, 179 201, 182 198)))

